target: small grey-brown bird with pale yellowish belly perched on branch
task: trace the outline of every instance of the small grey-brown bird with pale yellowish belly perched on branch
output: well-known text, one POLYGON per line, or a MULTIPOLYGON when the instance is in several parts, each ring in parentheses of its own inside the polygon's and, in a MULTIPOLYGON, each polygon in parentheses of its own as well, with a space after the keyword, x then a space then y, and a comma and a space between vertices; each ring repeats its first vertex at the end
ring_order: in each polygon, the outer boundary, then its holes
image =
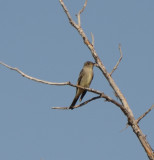
MULTIPOLYGON (((93 79, 93 67, 94 67, 95 63, 87 61, 84 63, 84 66, 79 74, 79 78, 77 81, 77 85, 80 85, 82 87, 86 87, 89 88, 91 81, 93 79)), ((81 88, 76 88, 76 95, 73 99, 72 104, 70 105, 69 109, 73 109, 73 107, 75 106, 77 100, 79 99, 80 95, 80 101, 82 101, 83 97, 86 94, 86 90, 81 89, 81 88)))

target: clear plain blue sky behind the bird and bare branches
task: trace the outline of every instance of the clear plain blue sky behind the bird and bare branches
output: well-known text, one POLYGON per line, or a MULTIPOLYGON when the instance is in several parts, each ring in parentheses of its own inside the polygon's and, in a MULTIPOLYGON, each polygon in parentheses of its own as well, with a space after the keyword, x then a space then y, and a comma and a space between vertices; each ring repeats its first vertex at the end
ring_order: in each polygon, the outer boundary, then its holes
MULTIPOLYGON (((71 16, 84 0, 64 0, 71 16)), ((135 118, 154 103, 154 1, 89 0, 81 16, 95 49, 125 95, 135 118)), ((0 61, 30 76, 76 84, 83 63, 94 61, 58 0, 0 0, 0 61)), ((94 68, 91 88, 114 98, 94 68)), ((0 159, 147 160, 127 119, 115 105, 99 99, 73 111, 75 88, 49 86, 23 78, 0 65, 0 159)), ((87 93, 84 100, 95 96, 87 93)), ((154 110, 139 124, 154 148, 154 110)))

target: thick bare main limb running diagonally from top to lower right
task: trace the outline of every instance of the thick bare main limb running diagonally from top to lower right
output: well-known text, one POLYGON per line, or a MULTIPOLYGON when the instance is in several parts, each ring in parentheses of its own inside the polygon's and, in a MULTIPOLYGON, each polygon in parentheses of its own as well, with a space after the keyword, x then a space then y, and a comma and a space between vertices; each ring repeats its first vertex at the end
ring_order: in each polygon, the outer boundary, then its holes
POLYGON ((128 124, 132 127, 133 132, 136 134, 137 138, 139 139, 141 145, 143 146, 145 152, 147 153, 148 158, 150 160, 154 160, 153 150, 152 150, 150 144, 148 143, 148 141, 146 140, 146 137, 142 133, 141 129, 139 128, 139 126, 137 124, 137 121, 135 120, 135 117, 133 115, 133 112, 132 112, 132 110, 130 109, 130 107, 128 105, 128 102, 127 102, 126 98, 124 97, 124 95, 120 91, 119 87, 114 82, 113 78, 111 77, 111 74, 109 72, 107 72, 104 64, 102 63, 101 59, 98 57, 98 54, 96 53, 94 46, 88 40, 88 38, 87 38, 85 32, 83 31, 83 29, 81 28, 81 26, 75 24, 74 21, 72 20, 72 18, 70 17, 70 14, 69 14, 69 12, 68 12, 68 10, 67 10, 64 2, 63 2, 63 0, 59 0, 59 2, 60 2, 62 8, 64 9, 64 12, 66 13, 66 15, 68 17, 70 24, 81 35, 84 43, 87 45, 87 47, 89 48, 93 58, 95 59, 95 62, 98 64, 98 67, 101 70, 102 74, 105 76, 105 78, 107 79, 109 85, 112 87, 112 89, 116 93, 117 97, 121 101, 122 106, 123 106, 121 108, 121 110, 127 116, 128 124))

